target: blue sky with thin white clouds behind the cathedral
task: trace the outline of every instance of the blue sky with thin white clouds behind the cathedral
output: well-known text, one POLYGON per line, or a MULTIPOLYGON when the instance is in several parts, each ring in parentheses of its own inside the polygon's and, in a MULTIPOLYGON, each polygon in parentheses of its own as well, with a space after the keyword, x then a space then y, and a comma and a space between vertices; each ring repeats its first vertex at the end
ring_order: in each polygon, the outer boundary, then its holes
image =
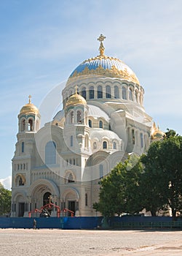
POLYGON ((101 33, 106 55, 122 59, 140 80, 146 113, 163 131, 182 135, 181 17, 181 0, 0 1, 4 186, 9 188, 17 115, 28 95, 39 108, 78 64, 98 55, 101 33))

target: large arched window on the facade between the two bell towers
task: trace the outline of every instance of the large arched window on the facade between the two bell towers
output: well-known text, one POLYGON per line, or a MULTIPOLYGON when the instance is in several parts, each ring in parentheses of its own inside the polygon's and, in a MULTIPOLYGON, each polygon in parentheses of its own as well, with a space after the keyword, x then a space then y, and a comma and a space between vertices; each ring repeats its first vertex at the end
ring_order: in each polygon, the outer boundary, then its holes
POLYGON ((45 164, 56 164, 56 145, 55 142, 50 140, 45 146, 45 164))

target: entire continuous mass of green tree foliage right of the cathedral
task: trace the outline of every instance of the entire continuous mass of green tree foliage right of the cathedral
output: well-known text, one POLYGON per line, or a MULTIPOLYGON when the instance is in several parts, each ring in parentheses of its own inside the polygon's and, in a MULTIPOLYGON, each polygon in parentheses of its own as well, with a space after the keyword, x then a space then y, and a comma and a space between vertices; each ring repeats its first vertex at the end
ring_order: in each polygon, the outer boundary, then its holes
POLYGON ((130 156, 100 181, 100 200, 94 208, 104 216, 143 208, 153 216, 169 206, 173 217, 182 213, 182 137, 168 129, 166 137, 151 143, 146 155, 130 156))

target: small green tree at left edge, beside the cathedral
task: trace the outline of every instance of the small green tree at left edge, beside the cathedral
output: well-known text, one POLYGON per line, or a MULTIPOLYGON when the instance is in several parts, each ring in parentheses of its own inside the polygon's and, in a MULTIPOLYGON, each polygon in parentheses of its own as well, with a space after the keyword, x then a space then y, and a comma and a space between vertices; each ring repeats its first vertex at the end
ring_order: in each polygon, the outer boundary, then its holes
POLYGON ((3 185, 0 183, 0 216, 9 214, 11 211, 11 200, 12 192, 8 189, 4 189, 3 185))

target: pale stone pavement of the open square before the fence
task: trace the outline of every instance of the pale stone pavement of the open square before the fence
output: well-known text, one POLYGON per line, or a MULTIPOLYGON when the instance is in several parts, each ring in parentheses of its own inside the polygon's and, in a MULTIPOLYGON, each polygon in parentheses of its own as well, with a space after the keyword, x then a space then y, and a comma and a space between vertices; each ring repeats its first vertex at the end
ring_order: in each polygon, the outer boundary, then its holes
POLYGON ((181 256, 182 231, 1 229, 3 256, 181 256))

